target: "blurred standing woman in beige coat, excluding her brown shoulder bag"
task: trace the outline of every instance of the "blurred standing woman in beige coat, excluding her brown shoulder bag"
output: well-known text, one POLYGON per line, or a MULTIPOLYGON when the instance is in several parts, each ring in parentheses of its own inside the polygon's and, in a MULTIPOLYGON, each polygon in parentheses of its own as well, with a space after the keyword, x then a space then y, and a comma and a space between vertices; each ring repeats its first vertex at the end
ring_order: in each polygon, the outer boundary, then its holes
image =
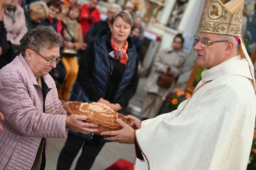
POLYGON ((153 71, 148 77, 145 90, 147 95, 141 110, 142 120, 151 119, 159 114, 160 108, 163 105, 162 97, 165 97, 169 91, 172 91, 176 85, 176 80, 179 75, 185 57, 182 52, 184 38, 181 34, 177 34, 173 40, 172 48, 161 50, 155 58, 153 71), (157 79, 161 73, 169 74, 174 77, 169 88, 158 86, 157 79))

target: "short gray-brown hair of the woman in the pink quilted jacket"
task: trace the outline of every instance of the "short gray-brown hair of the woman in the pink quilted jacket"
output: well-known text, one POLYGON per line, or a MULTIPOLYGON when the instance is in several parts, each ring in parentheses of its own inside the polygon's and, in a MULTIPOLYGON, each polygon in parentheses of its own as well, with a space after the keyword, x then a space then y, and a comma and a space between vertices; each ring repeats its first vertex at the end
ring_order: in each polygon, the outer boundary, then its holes
POLYGON ((19 43, 20 52, 23 53, 24 57, 27 49, 40 53, 42 48, 53 49, 54 47, 61 47, 63 44, 59 34, 52 26, 41 26, 30 30, 20 39, 19 43))

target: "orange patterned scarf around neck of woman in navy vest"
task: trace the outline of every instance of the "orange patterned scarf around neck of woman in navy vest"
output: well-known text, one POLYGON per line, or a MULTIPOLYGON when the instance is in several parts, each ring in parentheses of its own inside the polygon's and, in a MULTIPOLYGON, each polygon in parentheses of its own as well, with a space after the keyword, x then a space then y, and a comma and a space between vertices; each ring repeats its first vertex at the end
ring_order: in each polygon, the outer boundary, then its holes
POLYGON ((127 49, 128 49, 128 42, 127 40, 125 41, 124 47, 123 48, 118 48, 115 43, 114 43, 114 39, 111 35, 111 39, 110 39, 110 43, 111 43, 111 47, 113 48, 114 51, 111 52, 110 56, 113 57, 115 60, 119 60, 120 63, 122 64, 126 64, 127 60, 128 60, 128 55, 126 53, 127 49))

